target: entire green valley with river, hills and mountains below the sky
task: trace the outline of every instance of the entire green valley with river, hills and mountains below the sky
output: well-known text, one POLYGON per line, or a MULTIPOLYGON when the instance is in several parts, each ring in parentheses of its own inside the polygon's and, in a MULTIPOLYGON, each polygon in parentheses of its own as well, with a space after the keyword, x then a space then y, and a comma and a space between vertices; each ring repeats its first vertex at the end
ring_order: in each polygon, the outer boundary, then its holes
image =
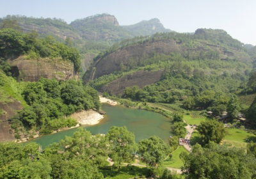
POLYGON ((255 178, 255 49, 159 19, 1 18, 0 178, 255 178))

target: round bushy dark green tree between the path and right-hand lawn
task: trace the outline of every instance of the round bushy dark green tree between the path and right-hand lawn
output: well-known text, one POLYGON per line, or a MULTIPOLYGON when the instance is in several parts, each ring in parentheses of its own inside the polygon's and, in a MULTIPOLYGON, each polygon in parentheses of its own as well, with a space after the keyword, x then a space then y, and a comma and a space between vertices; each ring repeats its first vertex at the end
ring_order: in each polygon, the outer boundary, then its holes
POLYGON ((223 123, 220 123, 217 120, 201 121, 197 130, 206 144, 210 141, 220 143, 226 134, 223 123))

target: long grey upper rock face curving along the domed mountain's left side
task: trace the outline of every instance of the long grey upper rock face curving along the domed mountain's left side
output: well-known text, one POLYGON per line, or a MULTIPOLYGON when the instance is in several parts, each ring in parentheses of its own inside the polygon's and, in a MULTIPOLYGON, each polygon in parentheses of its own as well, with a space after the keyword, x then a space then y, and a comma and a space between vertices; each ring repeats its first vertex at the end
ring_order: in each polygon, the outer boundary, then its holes
POLYGON ((108 75, 112 72, 120 70, 120 65, 123 63, 128 65, 129 59, 138 59, 143 57, 150 58, 154 53, 170 54, 170 52, 181 52, 182 47, 175 40, 157 40, 154 42, 138 43, 111 52, 110 54, 95 61, 90 68, 90 72, 86 74, 84 81, 96 79, 102 75, 108 75))

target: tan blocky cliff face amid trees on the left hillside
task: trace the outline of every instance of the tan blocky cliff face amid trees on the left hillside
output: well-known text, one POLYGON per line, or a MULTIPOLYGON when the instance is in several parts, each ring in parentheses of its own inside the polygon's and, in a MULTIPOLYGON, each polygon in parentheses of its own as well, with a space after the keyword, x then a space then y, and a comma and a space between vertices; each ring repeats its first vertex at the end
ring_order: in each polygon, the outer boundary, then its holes
POLYGON ((55 78, 59 81, 78 79, 74 65, 70 61, 62 59, 24 59, 21 56, 17 59, 8 60, 12 66, 12 74, 17 81, 38 81, 40 77, 47 79, 55 78))

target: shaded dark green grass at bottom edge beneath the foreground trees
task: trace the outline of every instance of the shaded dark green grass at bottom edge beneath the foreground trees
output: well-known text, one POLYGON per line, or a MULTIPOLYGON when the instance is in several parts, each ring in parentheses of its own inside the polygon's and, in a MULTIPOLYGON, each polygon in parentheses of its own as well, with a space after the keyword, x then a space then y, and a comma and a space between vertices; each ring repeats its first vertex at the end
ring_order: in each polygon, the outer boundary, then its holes
MULTIPOLYGON (((115 178, 115 179, 125 179, 125 178, 136 178, 138 176, 145 176, 147 175, 147 167, 138 167, 138 166, 123 166, 121 167, 120 173, 118 173, 118 168, 113 169, 111 166, 105 167, 105 169, 100 169, 100 172, 103 173, 103 175, 106 178, 115 178)), ((142 177, 145 178, 145 177, 142 177)))

